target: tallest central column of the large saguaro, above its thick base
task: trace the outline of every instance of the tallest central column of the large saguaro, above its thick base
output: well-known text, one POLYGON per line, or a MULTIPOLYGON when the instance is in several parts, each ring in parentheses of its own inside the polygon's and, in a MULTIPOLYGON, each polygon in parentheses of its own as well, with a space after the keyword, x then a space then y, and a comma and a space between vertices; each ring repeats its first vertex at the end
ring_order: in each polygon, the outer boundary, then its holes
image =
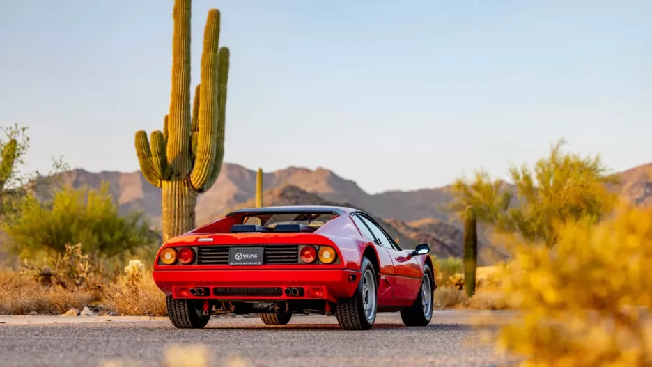
POLYGON ((176 177, 190 171, 190 10, 191 0, 175 0, 172 12, 172 90, 167 158, 176 177))

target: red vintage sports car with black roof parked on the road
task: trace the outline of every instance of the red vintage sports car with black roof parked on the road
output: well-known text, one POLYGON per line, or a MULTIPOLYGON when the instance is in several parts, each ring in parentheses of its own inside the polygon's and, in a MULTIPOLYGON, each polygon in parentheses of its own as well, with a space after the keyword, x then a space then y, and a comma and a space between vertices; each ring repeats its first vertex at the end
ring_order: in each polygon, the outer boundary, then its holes
POLYGON ((222 313, 259 313, 267 325, 321 313, 370 329, 377 312, 396 311, 405 325, 426 326, 437 288, 429 251, 401 249, 352 208, 242 209, 164 243, 153 275, 180 328, 222 313))

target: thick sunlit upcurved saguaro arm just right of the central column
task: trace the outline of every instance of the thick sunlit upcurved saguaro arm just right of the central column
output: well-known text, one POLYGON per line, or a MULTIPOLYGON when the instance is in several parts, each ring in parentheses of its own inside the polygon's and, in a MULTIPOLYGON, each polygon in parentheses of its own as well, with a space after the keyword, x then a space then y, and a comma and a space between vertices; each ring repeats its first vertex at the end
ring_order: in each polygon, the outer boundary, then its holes
POLYGON ((195 189, 206 186, 215 164, 217 139, 217 82, 219 69, 219 10, 208 10, 201 55, 201 84, 197 116, 197 149, 190 182, 195 189))

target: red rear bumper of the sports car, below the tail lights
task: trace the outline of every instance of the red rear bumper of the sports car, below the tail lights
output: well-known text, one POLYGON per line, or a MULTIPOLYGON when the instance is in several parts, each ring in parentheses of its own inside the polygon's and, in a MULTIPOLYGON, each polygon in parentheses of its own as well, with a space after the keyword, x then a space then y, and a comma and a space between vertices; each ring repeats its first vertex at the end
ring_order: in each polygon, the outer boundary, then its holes
POLYGON ((215 299, 221 301, 293 301, 300 299, 325 299, 337 302, 338 299, 352 297, 360 281, 360 272, 356 270, 155 270, 156 285, 173 298, 215 299), (210 294, 189 295, 187 290, 194 287, 209 288, 210 294), (285 288, 304 288, 304 295, 286 295, 285 288), (215 295, 215 288, 240 288, 234 295, 215 295), (251 294, 247 289, 263 288, 265 295, 251 294), (270 288, 281 288, 280 295, 270 295, 270 288), (322 296, 309 295, 309 289, 321 288, 322 296))

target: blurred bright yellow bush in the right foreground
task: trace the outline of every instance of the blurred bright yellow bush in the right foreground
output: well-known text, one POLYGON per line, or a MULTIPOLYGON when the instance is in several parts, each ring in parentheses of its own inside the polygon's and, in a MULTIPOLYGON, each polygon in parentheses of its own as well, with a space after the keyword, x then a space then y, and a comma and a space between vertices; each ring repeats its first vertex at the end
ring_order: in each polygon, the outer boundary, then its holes
POLYGON ((621 208, 544 243, 516 243, 507 304, 522 310, 499 348, 522 366, 652 365, 652 210, 621 208))

